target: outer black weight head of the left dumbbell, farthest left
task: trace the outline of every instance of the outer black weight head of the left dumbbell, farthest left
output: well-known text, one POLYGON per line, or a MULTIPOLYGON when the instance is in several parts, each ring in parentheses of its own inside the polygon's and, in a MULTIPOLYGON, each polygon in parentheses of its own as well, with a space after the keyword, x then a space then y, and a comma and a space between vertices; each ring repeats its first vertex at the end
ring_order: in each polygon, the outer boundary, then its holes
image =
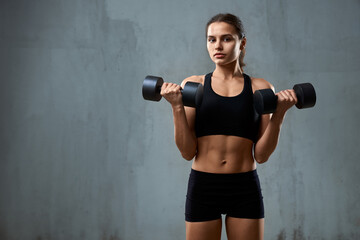
POLYGON ((143 83, 142 94, 143 98, 150 101, 160 101, 161 86, 164 80, 161 77, 146 76, 143 83))

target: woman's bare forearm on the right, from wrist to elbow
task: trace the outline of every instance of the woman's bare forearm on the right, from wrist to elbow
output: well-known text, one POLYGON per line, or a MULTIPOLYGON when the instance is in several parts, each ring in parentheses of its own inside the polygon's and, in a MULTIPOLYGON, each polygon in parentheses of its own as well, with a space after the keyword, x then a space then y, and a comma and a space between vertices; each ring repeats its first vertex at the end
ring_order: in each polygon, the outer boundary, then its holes
POLYGON ((254 157, 258 163, 266 162, 270 155, 275 151, 284 117, 285 113, 274 113, 264 134, 256 143, 254 157))

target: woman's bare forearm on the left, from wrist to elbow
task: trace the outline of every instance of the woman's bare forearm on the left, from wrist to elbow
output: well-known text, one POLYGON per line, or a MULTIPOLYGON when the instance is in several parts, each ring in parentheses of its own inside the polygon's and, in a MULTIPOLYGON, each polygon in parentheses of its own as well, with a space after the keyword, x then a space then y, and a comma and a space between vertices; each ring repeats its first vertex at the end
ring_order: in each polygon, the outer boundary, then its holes
POLYGON ((186 119, 184 106, 173 106, 175 143, 181 155, 186 160, 194 158, 197 149, 197 139, 191 131, 186 119))

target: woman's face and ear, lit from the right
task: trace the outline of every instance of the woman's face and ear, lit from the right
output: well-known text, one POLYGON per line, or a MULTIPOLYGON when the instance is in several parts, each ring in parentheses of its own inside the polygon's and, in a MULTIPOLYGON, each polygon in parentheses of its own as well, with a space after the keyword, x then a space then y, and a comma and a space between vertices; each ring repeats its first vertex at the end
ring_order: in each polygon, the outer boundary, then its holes
POLYGON ((211 60, 218 65, 238 61, 246 39, 239 39, 235 28, 225 22, 214 22, 207 30, 207 50, 211 60))

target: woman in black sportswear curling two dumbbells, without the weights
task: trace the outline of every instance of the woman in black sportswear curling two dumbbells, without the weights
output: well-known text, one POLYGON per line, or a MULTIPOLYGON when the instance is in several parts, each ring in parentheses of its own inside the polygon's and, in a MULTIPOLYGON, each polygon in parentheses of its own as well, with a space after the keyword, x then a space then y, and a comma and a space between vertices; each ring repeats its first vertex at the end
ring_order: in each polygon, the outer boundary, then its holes
POLYGON ((296 95, 293 90, 277 93, 276 112, 259 116, 253 92, 274 88, 243 71, 246 38, 241 21, 218 14, 208 22, 206 33, 215 70, 181 84, 202 83, 202 104, 196 109, 184 107, 179 85, 164 83, 161 89, 172 106, 176 145, 186 160, 195 157, 186 198, 186 239, 220 239, 221 214, 226 214, 228 239, 263 239, 264 207, 256 162, 266 162, 275 150, 296 95))

